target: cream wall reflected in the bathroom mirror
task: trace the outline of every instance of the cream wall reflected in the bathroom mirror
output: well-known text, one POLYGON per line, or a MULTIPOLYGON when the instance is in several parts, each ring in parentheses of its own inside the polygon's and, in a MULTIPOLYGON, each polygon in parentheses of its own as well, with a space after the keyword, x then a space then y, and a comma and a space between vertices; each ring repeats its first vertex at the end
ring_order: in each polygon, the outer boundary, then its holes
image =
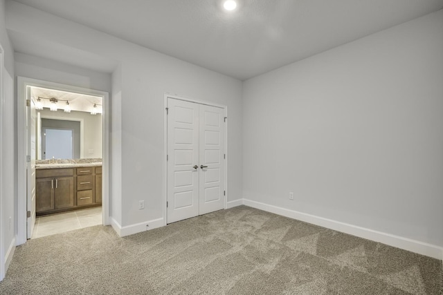
POLYGON ((82 120, 83 158, 102 158, 103 118, 101 114, 91 115, 90 113, 79 111, 64 113, 64 111, 60 110, 53 112, 49 111, 48 108, 44 108, 42 111, 38 112, 41 114, 42 118, 74 121, 82 120), (93 150, 93 153, 89 153, 90 149, 93 150))

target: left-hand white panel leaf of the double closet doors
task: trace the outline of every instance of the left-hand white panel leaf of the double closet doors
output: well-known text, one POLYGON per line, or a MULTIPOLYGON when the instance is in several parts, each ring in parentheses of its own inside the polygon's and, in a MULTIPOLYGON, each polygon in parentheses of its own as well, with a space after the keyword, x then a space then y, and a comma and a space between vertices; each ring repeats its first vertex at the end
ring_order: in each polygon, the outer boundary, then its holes
POLYGON ((199 215, 198 164, 199 105, 168 98, 168 223, 199 215))

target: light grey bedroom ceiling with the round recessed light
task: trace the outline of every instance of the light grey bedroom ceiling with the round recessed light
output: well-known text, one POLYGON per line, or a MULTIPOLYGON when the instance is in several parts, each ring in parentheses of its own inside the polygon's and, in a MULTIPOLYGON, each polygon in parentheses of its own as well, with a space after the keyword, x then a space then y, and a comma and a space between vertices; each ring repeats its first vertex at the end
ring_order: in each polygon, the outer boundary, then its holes
POLYGON ((226 13, 219 0, 17 1, 238 79, 443 8, 443 0, 242 0, 226 13))

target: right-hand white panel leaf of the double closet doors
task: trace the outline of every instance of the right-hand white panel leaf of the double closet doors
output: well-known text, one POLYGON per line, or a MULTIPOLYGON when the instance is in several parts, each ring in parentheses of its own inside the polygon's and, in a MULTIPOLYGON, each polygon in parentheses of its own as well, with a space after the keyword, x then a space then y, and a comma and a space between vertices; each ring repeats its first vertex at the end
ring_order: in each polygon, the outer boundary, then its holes
POLYGON ((199 214, 224 209, 224 109, 200 105, 199 214))

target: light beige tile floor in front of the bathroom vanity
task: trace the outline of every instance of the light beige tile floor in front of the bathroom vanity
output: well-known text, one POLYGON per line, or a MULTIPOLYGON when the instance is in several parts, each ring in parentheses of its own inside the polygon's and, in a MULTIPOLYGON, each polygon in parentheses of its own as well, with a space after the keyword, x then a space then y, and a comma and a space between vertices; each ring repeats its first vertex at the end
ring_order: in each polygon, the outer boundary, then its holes
POLYGON ((93 227, 102 224, 102 207, 69 211, 48 216, 39 216, 35 220, 32 238, 42 238, 74 229, 93 227))

